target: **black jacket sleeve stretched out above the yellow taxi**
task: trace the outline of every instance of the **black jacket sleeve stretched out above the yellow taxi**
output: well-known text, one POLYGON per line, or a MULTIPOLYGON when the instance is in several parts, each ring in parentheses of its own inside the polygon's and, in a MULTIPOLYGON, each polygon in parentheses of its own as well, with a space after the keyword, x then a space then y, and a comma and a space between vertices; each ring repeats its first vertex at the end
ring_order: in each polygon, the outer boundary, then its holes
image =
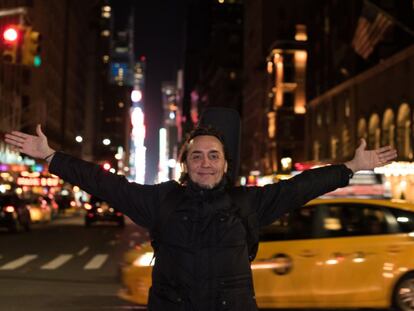
POLYGON ((345 165, 331 165, 304 171, 288 180, 257 187, 251 204, 255 206, 260 226, 273 223, 278 217, 320 195, 349 183, 352 171, 345 165))

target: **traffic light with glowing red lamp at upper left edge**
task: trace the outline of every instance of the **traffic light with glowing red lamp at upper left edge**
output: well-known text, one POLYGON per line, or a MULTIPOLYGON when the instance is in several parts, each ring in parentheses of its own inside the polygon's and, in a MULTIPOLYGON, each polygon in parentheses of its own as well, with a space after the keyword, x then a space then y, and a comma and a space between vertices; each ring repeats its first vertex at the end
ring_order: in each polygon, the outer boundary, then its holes
POLYGON ((2 34, 2 60, 7 63, 20 62, 20 42, 22 28, 19 25, 9 25, 2 34))

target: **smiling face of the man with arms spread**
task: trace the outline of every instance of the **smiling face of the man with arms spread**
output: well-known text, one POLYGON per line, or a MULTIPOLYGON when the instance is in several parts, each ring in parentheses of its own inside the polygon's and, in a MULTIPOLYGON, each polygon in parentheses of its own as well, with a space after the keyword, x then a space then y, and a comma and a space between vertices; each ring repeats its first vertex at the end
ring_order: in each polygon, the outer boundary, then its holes
POLYGON ((185 168, 194 183, 202 188, 214 188, 227 171, 227 161, 220 140, 210 135, 192 139, 188 145, 185 168))

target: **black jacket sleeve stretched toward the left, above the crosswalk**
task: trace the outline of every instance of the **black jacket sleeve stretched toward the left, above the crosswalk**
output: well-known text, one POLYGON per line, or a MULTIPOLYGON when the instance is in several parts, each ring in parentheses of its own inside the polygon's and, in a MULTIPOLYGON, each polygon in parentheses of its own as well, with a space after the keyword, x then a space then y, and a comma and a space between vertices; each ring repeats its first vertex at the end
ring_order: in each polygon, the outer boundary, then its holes
POLYGON ((151 228, 159 206, 158 186, 129 182, 125 176, 112 174, 99 165, 57 152, 49 171, 79 186, 89 194, 107 201, 129 216, 136 224, 151 228))

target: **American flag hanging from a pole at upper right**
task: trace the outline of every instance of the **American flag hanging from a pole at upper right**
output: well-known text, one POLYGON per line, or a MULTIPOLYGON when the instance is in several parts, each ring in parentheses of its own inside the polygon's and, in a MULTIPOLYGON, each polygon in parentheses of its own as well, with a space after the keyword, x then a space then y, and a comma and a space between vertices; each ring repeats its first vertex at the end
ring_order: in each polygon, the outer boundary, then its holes
POLYGON ((391 18, 365 2, 352 40, 355 52, 367 59, 392 25, 391 18))

